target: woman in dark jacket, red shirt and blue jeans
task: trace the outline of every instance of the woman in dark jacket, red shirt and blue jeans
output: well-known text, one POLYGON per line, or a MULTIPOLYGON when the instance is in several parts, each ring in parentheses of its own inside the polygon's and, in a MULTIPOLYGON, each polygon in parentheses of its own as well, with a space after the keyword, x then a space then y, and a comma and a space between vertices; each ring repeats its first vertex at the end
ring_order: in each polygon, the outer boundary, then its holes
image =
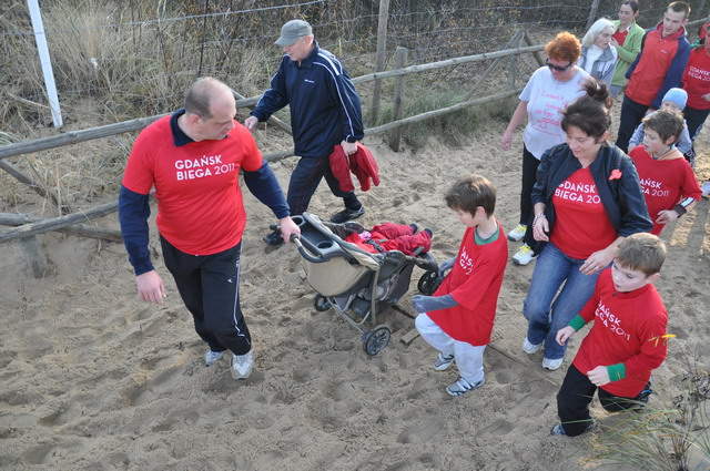
POLYGON ((633 163, 607 142, 608 89, 594 79, 585 89, 562 112, 566 143, 542 155, 532 188, 532 235, 548 244, 523 308, 528 319, 523 349, 534 354, 544 347, 542 367, 550 370, 565 358, 566 347, 555 341, 557 330, 591 297, 618 245, 652 228, 633 163))

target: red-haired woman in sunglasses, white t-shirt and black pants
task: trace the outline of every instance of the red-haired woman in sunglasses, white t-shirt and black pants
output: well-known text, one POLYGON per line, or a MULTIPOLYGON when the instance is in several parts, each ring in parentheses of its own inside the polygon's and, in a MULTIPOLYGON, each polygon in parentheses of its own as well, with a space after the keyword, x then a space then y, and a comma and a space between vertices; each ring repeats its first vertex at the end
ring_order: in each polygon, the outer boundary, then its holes
POLYGON ((525 239, 525 244, 513 256, 516 265, 527 265, 537 257, 538 244, 532 238, 531 231, 526 232, 532 222, 530 194, 535 173, 545 151, 565 142, 560 111, 585 93, 581 84, 589 78, 584 69, 577 66, 581 45, 574 34, 567 31, 557 34, 545 47, 545 53, 546 66, 536 70, 528 80, 520 93, 520 103, 500 139, 500 146, 504 150, 510 149, 513 131, 527 120, 523 133, 520 219, 517 227, 508 234, 510 240, 525 239))

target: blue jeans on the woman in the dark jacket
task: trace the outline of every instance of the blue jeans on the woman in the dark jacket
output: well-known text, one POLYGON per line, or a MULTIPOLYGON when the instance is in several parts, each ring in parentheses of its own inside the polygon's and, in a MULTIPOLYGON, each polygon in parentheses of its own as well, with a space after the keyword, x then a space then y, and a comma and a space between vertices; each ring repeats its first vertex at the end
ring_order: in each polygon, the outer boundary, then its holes
POLYGON ((565 357, 567 346, 557 344, 557 331, 579 314, 595 291, 599 272, 582 275, 579 267, 584 263, 547 243, 535 264, 523 315, 528 319, 528 341, 534 345, 545 341, 545 358, 550 360, 565 357))

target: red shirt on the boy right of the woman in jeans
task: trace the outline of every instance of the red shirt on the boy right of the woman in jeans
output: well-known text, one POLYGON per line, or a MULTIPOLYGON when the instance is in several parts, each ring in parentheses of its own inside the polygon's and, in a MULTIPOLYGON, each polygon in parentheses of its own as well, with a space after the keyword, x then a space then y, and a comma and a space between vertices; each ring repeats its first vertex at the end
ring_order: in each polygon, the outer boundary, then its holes
POLYGON ((702 191, 690 164, 682 156, 669 161, 657 161, 646 152, 642 145, 633 147, 629 156, 639 172, 648 214, 653 222, 651 234, 659 235, 666 225, 656 223, 658 213, 672 209, 681 198, 700 199, 702 191))

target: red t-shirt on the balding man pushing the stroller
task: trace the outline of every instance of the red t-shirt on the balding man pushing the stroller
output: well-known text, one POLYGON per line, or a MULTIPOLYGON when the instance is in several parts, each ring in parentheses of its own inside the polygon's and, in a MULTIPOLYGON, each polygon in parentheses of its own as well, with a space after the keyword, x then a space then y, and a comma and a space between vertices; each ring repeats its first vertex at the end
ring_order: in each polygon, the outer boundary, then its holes
POLYGON ((138 136, 123 186, 142 195, 155 186, 158 228, 181 252, 211 255, 234 247, 246 223, 240 168, 262 166, 254 137, 235 121, 223 140, 175 146, 170 119, 161 117, 138 136))

